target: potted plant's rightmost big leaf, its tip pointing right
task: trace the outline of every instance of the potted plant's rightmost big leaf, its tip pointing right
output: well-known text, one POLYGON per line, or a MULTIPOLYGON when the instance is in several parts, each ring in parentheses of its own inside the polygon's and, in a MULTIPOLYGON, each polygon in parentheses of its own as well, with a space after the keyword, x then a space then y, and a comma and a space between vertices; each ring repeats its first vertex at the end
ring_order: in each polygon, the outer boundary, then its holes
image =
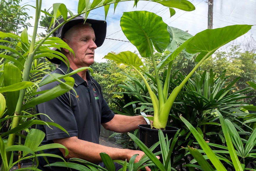
POLYGON ((218 48, 245 34, 251 28, 252 25, 233 25, 218 29, 206 29, 197 33, 189 41, 186 50, 192 54, 202 53, 196 58, 196 62, 199 62, 206 54, 210 56, 218 48))

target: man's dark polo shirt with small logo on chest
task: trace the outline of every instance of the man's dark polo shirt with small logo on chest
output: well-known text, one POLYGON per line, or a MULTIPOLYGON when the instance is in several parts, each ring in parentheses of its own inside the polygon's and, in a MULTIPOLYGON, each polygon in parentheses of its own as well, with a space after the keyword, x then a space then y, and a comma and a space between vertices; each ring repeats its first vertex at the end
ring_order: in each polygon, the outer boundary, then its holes
MULTIPOLYGON (((72 71, 71 68, 69 68, 69 70, 70 72, 72 71)), ((61 63, 60 67, 52 73, 64 74, 66 72, 67 66, 61 63)), ((77 92, 77 97, 75 93, 70 90, 58 98, 36 106, 37 113, 47 114, 55 123, 61 125, 69 133, 68 135, 54 126, 51 126, 53 129, 50 129, 46 125, 37 125, 37 128, 44 131, 46 134, 42 145, 53 143, 53 139, 67 138, 69 136, 77 136, 78 139, 98 144, 101 123, 107 123, 114 117, 114 113, 109 109, 108 104, 103 98, 101 87, 97 81, 90 76, 88 71, 86 73, 88 84, 78 74, 74 74, 72 77, 75 79, 73 88, 77 92)), ((40 87, 40 90, 49 90, 58 84, 60 83, 55 81, 40 87)), ((51 122, 45 115, 40 115, 39 119, 51 122)), ((62 156, 59 149, 49 149, 45 151, 45 153, 62 156)), ((46 164, 44 159, 39 158, 39 160, 41 166, 46 164)), ((60 161, 57 158, 48 158, 48 160, 50 163, 60 161)), ((64 168, 62 167, 60 170, 64 170, 64 168)))

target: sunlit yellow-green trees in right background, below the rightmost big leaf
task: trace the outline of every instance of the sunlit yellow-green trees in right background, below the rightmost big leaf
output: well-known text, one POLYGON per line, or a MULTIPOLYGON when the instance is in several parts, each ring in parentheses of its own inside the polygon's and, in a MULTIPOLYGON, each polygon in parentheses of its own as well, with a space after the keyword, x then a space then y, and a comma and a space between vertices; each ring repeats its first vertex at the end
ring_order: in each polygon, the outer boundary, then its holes
MULTIPOLYGON (((223 70, 230 75, 228 81, 234 80, 240 76, 241 79, 237 82, 238 90, 249 87, 246 81, 255 82, 256 80, 256 55, 253 51, 241 52, 240 46, 231 46, 229 52, 217 51, 212 57, 208 58, 202 65, 202 70, 212 68, 216 76, 219 76, 223 70)), ((250 92, 248 95, 255 95, 255 92, 250 92)), ((255 99, 247 98, 248 103, 255 104, 255 99)))

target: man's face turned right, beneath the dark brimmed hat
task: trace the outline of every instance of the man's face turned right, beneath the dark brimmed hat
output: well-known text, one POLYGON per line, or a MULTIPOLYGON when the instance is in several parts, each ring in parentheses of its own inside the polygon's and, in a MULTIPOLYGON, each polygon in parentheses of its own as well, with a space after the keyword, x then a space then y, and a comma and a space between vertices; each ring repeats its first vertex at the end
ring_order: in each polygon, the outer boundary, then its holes
POLYGON ((77 32, 75 34, 63 40, 69 45, 75 52, 75 59, 73 54, 68 53, 70 65, 75 65, 72 68, 89 67, 94 63, 94 49, 97 48, 95 41, 94 30, 91 26, 78 24, 76 26, 77 32))

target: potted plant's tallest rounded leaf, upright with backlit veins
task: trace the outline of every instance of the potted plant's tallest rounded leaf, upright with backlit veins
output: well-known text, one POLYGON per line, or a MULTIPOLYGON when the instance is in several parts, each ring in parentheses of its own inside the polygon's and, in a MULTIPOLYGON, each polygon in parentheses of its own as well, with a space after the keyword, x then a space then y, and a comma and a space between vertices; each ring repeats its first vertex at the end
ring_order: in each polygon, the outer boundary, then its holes
POLYGON ((151 56, 150 49, 153 50, 153 45, 158 52, 163 53, 170 43, 167 24, 152 12, 124 12, 120 26, 142 57, 151 56))

